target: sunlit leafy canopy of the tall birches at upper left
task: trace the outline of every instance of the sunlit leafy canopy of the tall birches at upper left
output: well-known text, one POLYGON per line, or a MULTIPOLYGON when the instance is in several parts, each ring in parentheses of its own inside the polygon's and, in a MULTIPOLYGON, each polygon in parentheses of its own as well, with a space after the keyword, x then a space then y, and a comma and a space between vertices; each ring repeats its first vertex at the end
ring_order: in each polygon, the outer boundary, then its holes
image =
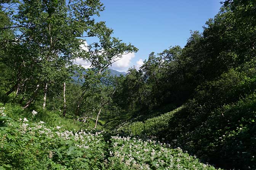
POLYGON ((76 58, 90 60, 100 73, 125 52, 137 50, 111 37, 113 30, 105 22, 95 22, 94 16, 104 9, 99 0, 24 0, 14 2, 18 8, 10 3, 10 10, 16 9, 10 13, 12 23, 0 30, 14 30, 15 41, 2 60, 16 72, 16 81, 6 95, 18 89, 27 100, 24 108, 35 101, 40 90, 44 89, 46 101, 52 85, 69 82, 76 58), (82 49, 80 38, 93 36, 99 42, 90 44, 89 50, 82 49))

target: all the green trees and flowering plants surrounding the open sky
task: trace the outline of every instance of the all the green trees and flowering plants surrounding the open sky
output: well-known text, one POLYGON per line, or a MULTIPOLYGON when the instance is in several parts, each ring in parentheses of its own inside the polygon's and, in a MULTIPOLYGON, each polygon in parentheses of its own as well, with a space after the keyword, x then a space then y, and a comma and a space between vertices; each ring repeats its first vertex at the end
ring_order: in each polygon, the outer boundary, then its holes
POLYGON ((0 168, 255 169, 256 1, 222 2, 186 46, 119 77, 107 68, 138 49, 103 10, 0 1, 0 168))

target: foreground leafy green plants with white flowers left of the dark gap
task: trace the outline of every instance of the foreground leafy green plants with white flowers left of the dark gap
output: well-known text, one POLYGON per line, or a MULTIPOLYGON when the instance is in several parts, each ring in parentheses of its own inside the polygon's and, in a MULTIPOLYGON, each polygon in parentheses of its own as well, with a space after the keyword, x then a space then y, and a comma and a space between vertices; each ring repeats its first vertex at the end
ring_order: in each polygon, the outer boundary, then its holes
POLYGON ((102 134, 47 128, 26 118, 8 122, 0 132, 0 164, 12 169, 104 169, 102 134))

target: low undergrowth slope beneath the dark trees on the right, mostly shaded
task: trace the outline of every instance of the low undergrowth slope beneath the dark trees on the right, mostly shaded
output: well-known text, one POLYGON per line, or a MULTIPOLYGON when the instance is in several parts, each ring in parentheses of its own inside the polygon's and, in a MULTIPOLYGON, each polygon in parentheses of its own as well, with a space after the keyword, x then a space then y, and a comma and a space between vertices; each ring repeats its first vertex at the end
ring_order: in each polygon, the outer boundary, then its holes
POLYGON ((145 121, 126 121, 114 131, 156 136, 217 167, 254 169, 255 89, 253 61, 202 84, 181 107, 145 121))

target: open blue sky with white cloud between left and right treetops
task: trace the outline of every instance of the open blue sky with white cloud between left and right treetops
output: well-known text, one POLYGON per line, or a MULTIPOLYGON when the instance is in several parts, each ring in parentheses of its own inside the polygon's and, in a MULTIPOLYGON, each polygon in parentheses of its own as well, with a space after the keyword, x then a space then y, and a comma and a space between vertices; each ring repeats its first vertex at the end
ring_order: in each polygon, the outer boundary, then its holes
POLYGON ((202 32, 206 20, 219 11, 221 0, 101 0, 105 11, 98 21, 114 29, 114 36, 131 42, 139 51, 112 66, 127 71, 139 66, 151 52, 184 47, 190 30, 202 32))

